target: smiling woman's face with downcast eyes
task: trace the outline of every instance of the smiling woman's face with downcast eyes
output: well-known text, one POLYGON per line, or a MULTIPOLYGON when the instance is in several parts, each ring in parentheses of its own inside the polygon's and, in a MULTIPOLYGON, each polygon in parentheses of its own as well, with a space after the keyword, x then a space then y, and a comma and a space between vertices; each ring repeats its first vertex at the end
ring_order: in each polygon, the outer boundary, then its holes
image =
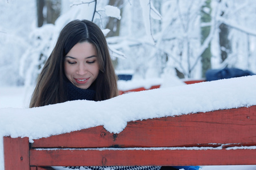
POLYGON ((76 87, 90 87, 100 71, 95 46, 89 42, 79 42, 73 46, 65 56, 64 71, 76 87))

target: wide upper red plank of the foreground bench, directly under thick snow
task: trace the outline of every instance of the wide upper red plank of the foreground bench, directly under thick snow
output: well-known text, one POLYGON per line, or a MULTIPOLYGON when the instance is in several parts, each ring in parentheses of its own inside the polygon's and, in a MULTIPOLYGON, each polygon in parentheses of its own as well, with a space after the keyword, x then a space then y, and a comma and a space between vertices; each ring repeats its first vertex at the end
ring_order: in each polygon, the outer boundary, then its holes
POLYGON ((174 147, 256 145, 256 106, 129 122, 119 134, 102 126, 35 140, 32 147, 174 147))

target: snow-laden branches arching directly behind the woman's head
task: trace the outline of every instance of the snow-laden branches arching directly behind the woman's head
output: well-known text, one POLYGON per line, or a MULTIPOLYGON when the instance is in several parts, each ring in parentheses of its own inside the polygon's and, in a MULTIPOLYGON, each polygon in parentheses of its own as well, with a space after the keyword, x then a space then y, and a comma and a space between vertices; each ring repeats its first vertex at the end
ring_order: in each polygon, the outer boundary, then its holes
MULTIPOLYGON (((103 1, 102 1, 103 2, 103 1)), ((25 86, 33 86, 36 82, 44 63, 52 52, 57 36, 61 29, 72 20, 88 19, 96 20, 99 25, 104 23, 102 18, 111 16, 120 19, 119 9, 113 6, 100 6, 104 3, 97 1, 73 1, 67 12, 57 18, 55 24, 44 24, 42 27, 35 28, 30 33, 29 48, 24 52, 20 59, 20 75, 23 76, 25 86)), ((102 30, 108 33, 109 30, 102 30)), ((110 49, 111 50, 111 49, 110 49)), ((115 50, 111 50, 115 52, 115 50)))

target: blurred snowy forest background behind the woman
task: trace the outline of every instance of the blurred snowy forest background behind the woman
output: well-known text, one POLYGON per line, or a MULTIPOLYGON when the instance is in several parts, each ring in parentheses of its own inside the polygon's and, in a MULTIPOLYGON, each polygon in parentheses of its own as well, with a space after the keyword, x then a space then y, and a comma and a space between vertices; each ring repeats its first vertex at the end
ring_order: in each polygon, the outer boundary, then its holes
POLYGON ((115 70, 138 79, 256 73, 254 0, 1 0, 0 86, 34 86, 65 24, 104 31, 115 70))

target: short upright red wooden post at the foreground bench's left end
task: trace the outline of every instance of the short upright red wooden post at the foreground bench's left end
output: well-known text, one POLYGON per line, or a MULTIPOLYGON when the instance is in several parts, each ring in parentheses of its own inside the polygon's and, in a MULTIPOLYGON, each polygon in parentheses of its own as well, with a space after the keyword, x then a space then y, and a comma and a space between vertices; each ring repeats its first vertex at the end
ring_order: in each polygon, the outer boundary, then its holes
POLYGON ((3 137, 5 170, 29 170, 28 138, 3 137))

